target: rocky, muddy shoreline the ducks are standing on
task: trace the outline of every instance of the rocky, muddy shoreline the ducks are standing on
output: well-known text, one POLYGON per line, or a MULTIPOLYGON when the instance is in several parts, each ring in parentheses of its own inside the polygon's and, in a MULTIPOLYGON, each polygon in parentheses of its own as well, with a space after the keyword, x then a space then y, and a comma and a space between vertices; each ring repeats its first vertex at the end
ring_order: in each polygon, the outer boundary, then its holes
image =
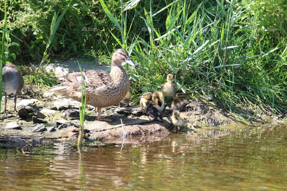
MULTIPOLYGON (((63 62, 62 65, 70 68, 49 65, 47 70, 56 71, 57 76, 77 72, 78 66, 75 65, 74 60, 66 62, 66 64, 63 62)), ((94 63, 82 63, 81 65, 83 65, 83 70, 107 68, 106 66, 95 67, 94 63)), ((13 110, 13 104, 13 97, 9 97, 8 111, 13 110)), ((56 96, 48 90, 43 91, 40 98, 37 99, 18 96, 18 115, 10 113, 0 118, 0 147, 41 145, 52 142, 75 143, 79 124, 79 104, 77 101, 56 96)), ((284 118, 284 116, 266 115, 254 120, 250 114, 249 116, 246 115, 246 121, 243 122, 212 101, 207 102, 200 98, 190 99, 183 112, 190 121, 186 135, 214 134, 215 130, 220 134, 226 129, 246 127, 250 122, 259 124, 280 123, 284 118), (250 121, 249 118, 253 120, 250 121)), ((173 127, 169 123, 169 115, 164 117, 163 122, 154 121, 151 123, 147 116, 142 115, 140 107, 137 105, 106 107, 102 109, 102 115, 112 119, 113 122, 96 121, 96 108, 87 106, 84 124, 86 142, 121 143, 120 119, 123 120, 126 131, 126 143, 153 140, 153 136, 164 137, 170 133, 184 133, 183 130, 173 131, 173 127)))

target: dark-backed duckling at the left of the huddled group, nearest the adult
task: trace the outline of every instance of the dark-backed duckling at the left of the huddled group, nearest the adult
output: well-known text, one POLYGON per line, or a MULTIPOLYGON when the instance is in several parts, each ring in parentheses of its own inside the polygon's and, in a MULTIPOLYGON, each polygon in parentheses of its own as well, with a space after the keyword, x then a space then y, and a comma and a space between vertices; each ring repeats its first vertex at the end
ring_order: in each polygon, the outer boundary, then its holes
POLYGON ((158 104, 152 101, 152 93, 145 92, 140 98, 142 112, 152 117, 151 121, 154 121, 155 119, 162 121, 163 113, 158 104))

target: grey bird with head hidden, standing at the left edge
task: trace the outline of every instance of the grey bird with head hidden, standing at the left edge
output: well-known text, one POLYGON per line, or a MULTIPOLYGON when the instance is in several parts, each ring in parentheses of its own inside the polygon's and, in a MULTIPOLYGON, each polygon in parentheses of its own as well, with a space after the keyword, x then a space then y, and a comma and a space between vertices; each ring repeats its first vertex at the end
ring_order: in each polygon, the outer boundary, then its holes
POLYGON ((13 93, 14 97, 14 111, 17 112, 16 101, 17 94, 22 90, 24 86, 24 79, 19 72, 18 68, 12 64, 8 63, 2 69, 2 89, 5 94, 5 106, 4 115, 6 115, 6 104, 7 104, 7 94, 13 93))

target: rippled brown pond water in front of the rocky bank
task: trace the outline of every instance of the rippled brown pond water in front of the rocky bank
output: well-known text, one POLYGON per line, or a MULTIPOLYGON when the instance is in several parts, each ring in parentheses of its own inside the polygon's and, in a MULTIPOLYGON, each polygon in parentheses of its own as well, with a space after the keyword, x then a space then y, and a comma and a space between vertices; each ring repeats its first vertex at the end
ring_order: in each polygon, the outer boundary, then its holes
POLYGON ((0 149, 0 190, 287 190, 287 128, 0 149))

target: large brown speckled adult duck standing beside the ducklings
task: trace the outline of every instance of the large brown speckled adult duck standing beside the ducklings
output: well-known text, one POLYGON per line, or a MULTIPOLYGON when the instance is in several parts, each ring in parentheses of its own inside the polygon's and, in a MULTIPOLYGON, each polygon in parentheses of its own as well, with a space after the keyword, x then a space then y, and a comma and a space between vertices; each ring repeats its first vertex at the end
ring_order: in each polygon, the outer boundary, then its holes
MULTIPOLYGON (((101 118, 102 107, 119 103, 129 90, 129 78, 121 65, 122 62, 137 67, 125 50, 117 49, 112 56, 110 73, 103 70, 87 70, 82 72, 86 86, 87 104, 98 107, 97 120, 112 121, 101 118)), ((52 90, 63 96, 81 101, 81 73, 71 73, 63 76, 63 78, 63 82, 52 90)))

